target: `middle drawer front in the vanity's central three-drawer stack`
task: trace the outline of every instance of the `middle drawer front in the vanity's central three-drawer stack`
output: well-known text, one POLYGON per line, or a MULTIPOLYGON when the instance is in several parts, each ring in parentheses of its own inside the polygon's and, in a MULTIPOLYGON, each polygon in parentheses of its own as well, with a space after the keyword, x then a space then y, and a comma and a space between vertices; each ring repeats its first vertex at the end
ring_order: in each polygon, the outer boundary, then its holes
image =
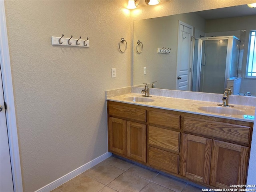
POLYGON ((154 147, 179 152, 180 132, 149 126, 148 143, 154 147))

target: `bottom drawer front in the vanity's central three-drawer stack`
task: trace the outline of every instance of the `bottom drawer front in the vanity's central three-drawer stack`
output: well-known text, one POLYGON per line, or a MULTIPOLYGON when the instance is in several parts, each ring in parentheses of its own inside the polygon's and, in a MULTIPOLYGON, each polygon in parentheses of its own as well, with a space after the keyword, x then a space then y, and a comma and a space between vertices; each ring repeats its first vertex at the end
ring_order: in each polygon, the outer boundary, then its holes
POLYGON ((148 163, 150 166, 178 174, 179 156, 171 152, 149 147, 148 163))

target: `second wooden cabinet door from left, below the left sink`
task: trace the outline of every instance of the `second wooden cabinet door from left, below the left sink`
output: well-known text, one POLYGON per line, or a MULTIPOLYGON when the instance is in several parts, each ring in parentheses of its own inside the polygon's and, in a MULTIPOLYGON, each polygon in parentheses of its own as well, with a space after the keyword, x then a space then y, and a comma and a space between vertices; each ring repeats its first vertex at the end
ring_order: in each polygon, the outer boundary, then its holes
POLYGON ((146 125, 127 121, 127 156, 146 163, 146 125))

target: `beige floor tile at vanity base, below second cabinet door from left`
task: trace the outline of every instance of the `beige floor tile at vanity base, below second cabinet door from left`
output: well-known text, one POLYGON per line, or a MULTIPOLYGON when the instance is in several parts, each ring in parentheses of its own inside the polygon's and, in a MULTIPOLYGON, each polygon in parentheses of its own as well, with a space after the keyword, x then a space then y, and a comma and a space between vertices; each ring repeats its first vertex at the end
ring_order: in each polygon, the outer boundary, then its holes
POLYGON ((151 171, 149 169, 137 165, 132 166, 127 171, 147 180, 152 180, 158 174, 158 172, 151 171))

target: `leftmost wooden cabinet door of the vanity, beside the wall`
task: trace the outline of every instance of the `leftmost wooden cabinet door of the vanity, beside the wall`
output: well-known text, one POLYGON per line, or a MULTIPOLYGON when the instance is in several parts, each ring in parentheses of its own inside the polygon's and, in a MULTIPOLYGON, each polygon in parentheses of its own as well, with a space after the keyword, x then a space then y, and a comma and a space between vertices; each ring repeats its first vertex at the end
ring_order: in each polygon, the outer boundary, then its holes
POLYGON ((110 152, 126 155, 126 120, 109 118, 108 146, 110 152))

